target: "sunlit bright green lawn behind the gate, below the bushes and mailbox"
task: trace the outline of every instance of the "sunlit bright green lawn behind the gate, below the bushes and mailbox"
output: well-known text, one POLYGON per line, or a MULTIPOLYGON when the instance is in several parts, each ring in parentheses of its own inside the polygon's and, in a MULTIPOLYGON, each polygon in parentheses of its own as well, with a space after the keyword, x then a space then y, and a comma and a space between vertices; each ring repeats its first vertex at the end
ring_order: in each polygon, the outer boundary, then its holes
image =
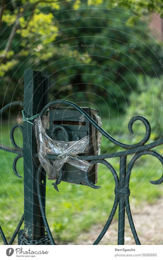
MULTIPOLYGON (((106 119, 102 121, 103 127, 116 138, 124 118, 120 117, 118 122, 115 119, 109 120, 109 124, 106 119), (115 125, 116 130, 113 128, 115 125)), ((10 126, 6 122, 3 123, 1 141, 3 145, 12 145, 9 141, 9 129, 11 129, 11 126, 12 123, 10 126)), ((120 140, 125 141, 127 134, 127 130, 124 130, 121 133, 120 140)), ((15 133, 15 139, 17 143, 22 143, 22 140, 20 140, 21 136, 17 133, 15 133)), ((119 148, 115 148, 115 146, 113 148, 110 141, 106 140, 106 138, 102 139, 103 153, 110 153, 116 151, 116 149, 119 148)), ((23 178, 17 178, 12 170, 15 156, 0 150, 0 224, 7 239, 12 236, 24 208, 23 178), (7 166, 2 156, 5 156, 12 176, 7 172, 7 166), (13 178, 12 183, 9 182, 9 177, 13 178)), ((152 156, 143 157, 135 165, 131 174, 131 207, 133 204, 140 206, 144 201, 154 203, 155 199, 162 196, 162 185, 149 183, 151 179, 160 178, 162 166, 160 163, 156 163, 155 158, 152 158, 152 156)), ((128 161, 131 158, 132 156, 128 156, 128 161)), ((108 159, 108 161, 119 173, 118 158, 108 159)), ((23 159, 19 159, 17 168, 20 175, 23 176, 23 159)), ((51 185, 54 181, 47 180, 46 216, 57 243, 75 243, 78 234, 88 232, 94 225, 106 222, 110 207, 114 201, 114 180, 111 177, 112 174, 109 169, 101 164, 98 168, 98 185, 102 186, 101 189, 92 190, 90 187, 62 182, 58 186, 59 193, 51 185)), ((115 218, 117 218, 117 214, 115 218)), ((2 239, 0 239, 0 244, 3 244, 2 239)))

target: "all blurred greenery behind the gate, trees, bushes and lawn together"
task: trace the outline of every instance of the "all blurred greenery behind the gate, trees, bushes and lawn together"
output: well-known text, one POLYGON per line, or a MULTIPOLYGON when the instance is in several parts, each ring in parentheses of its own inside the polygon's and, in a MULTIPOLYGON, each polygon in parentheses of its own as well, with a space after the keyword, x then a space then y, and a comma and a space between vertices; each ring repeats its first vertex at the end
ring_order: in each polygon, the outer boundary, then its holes
MULTIPOLYGON (((21 100, 24 70, 31 67, 42 71, 42 75, 50 75, 50 98, 65 98, 80 106, 98 108, 103 128, 115 138, 120 133, 120 141, 140 141, 144 134, 143 126, 135 123, 135 134, 128 134, 125 121, 138 114, 145 115, 150 121, 150 141, 160 138, 163 132, 163 78, 158 60, 163 60, 163 51, 161 41, 152 36, 149 23, 151 12, 162 16, 162 1, 157 1, 155 5, 154 1, 136 1, 135 4, 132 0, 77 0, 59 4, 58 1, 47 0, 30 1, 18 8, 26 3, 25 0, 1 2, 1 106, 21 100), (29 47, 26 47, 28 44, 29 47), (95 47, 82 47, 81 44, 95 44, 95 47), (131 49, 131 44, 151 65, 131 49), (105 45, 112 50, 104 48, 105 45), (134 92, 130 91, 125 80, 115 71, 100 68, 98 64, 120 73, 134 92), (70 84, 71 88, 65 88, 56 95, 59 89, 70 84), (125 129, 121 132, 123 124, 125 129)), ((12 108, 10 114, 6 111, 1 126, 2 142, 5 145, 10 145, 9 129, 16 120, 15 108, 12 108)), ((21 142, 18 134, 16 139, 21 142)), ((118 149, 102 138, 102 153, 118 149)), ((162 153, 161 148, 158 151, 162 153)), ((11 154, 0 151, 1 158, 2 155, 6 156, 12 169, 11 154)), ((162 168, 155 159, 149 158, 143 156, 132 171, 131 205, 139 205, 144 200, 151 203, 162 194, 161 186, 149 183, 150 179, 160 177, 162 168)), ((109 162, 118 172, 118 161, 111 159, 109 162)), ((23 176, 23 163, 20 160, 18 164, 23 176)), ((9 183, 3 160, 0 160, 0 166, 0 222, 4 232, 11 236, 14 231, 12 225, 16 226, 23 213, 23 179, 13 176, 13 183, 9 183)), ((46 213, 57 242, 72 243, 78 233, 107 220, 114 199, 114 183, 113 180, 107 183, 111 173, 105 166, 100 166, 98 172, 98 185, 103 186, 93 193, 88 187, 65 183, 59 185, 60 191, 57 193, 51 181, 47 182, 46 213)))

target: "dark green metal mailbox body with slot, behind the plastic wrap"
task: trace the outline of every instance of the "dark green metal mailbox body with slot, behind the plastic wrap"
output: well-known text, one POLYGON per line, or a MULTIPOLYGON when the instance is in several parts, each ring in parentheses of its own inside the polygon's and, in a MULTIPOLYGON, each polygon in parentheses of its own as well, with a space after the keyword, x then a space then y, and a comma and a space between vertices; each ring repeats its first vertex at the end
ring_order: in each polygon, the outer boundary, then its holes
MULTIPOLYGON (((82 107, 88 115, 91 116, 98 122, 97 113, 98 111, 90 107, 82 107)), ((92 126, 80 112, 76 111, 72 107, 50 107, 49 108, 49 129, 46 129, 46 133, 50 138, 56 141, 79 141, 85 136, 89 136, 89 151, 88 153, 79 154, 80 155, 96 155, 97 154, 97 138, 98 131, 92 126), (57 127, 58 126, 58 127, 57 127), (67 135, 62 130, 66 130, 67 135)), ((63 175, 61 181, 70 182, 73 184, 87 185, 85 180, 85 172, 65 163, 63 168, 63 175)), ((87 175, 91 183, 97 183, 97 164, 93 167, 87 175)))

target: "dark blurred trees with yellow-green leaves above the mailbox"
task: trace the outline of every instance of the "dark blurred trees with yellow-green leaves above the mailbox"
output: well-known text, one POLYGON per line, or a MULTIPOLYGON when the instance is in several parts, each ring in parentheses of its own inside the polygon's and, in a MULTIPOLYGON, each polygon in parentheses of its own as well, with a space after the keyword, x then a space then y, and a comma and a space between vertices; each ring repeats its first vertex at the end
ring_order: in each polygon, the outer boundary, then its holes
POLYGON ((50 97, 72 84, 57 99, 94 104, 96 95, 99 109, 104 99, 109 109, 126 111, 133 96, 129 86, 139 92, 138 76, 160 75, 157 57, 163 60, 162 47, 148 27, 148 11, 161 13, 161 7, 153 1, 134 2, 3 0, 0 26, 7 29, 0 47, 1 105, 21 99, 24 69, 32 67, 50 75, 50 97))

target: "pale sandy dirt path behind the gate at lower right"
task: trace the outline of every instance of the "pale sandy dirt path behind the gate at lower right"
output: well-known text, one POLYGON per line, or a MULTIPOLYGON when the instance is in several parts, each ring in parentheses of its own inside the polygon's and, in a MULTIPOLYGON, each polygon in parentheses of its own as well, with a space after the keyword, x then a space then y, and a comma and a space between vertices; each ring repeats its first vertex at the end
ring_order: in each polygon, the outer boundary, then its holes
MULTIPOLYGON (((141 244, 163 244, 163 198, 159 198, 150 205, 142 203, 141 207, 132 208, 132 217, 141 244)), ((77 239, 77 244, 92 244, 97 238, 97 234, 101 232, 103 226, 104 225, 95 226, 89 232, 80 234, 77 239)), ((117 244, 117 229, 117 220, 113 220, 100 244, 117 244)), ((127 219, 125 223, 125 244, 135 245, 127 219)))

